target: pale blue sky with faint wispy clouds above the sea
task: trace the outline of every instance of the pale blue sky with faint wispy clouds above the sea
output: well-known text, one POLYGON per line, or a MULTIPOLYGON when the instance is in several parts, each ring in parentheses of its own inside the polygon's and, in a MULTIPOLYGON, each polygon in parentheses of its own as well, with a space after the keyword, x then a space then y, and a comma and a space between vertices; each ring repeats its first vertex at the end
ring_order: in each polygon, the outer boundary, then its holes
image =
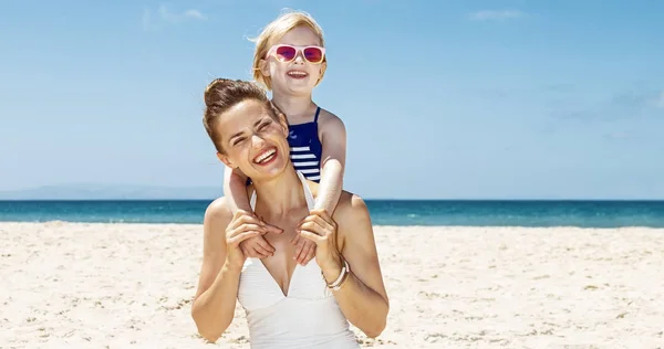
POLYGON ((283 8, 365 198, 664 198, 664 2, 1 1, 0 190, 221 186, 200 121, 283 8))

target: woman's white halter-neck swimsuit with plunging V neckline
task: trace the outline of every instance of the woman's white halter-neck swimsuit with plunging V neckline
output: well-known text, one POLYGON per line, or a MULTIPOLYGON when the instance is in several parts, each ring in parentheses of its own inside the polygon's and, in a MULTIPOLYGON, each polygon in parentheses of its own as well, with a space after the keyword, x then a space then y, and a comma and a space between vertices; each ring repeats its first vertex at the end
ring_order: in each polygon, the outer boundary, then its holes
MULTIPOLYGON (((313 195, 298 172, 309 210, 313 195)), ((256 207, 256 192, 251 195, 256 207)), ((328 289, 315 257, 297 265, 283 294, 259 258, 247 258, 238 300, 247 313, 251 348, 360 348, 334 295, 328 289)))

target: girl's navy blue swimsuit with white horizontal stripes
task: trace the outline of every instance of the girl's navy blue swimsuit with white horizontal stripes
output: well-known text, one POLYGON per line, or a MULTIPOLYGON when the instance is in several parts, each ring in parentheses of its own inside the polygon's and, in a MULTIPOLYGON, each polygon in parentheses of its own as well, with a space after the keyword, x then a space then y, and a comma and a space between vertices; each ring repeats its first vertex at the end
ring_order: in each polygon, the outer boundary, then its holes
POLYGON ((290 158, 295 171, 310 181, 321 180, 321 155, 323 146, 318 137, 318 117, 321 107, 315 110, 312 123, 289 125, 288 144, 290 158))

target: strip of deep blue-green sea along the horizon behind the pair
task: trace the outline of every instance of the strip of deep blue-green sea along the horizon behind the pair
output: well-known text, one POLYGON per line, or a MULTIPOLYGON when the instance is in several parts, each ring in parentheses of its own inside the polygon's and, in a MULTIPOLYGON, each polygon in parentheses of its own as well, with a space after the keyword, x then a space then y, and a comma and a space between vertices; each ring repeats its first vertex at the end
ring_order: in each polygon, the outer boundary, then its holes
MULTIPOLYGON (((199 224, 210 200, 0 201, 3 222, 199 224)), ((374 225, 664 228, 663 201, 366 200, 374 225)))

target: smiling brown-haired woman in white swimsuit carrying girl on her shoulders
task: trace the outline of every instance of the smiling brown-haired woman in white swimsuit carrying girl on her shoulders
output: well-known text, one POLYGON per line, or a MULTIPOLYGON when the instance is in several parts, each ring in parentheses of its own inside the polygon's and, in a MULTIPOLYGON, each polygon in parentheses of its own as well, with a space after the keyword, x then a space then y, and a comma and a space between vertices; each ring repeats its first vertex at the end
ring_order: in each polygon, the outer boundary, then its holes
POLYGON ((260 87, 216 80, 205 102, 204 125, 217 157, 251 178, 247 194, 256 214, 234 215, 225 198, 206 210, 191 308, 200 335, 216 341, 234 318, 237 298, 252 348, 357 348, 349 321, 378 336, 390 306, 362 199, 344 191, 333 216, 313 210, 319 187, 294 170, 286 118, 260 87), (242 254, 239 243, 257 235, 274 247, 271 256, 242 254), (298 265, 289 243, 298 235, 315 243, 315 263, 298 265))

